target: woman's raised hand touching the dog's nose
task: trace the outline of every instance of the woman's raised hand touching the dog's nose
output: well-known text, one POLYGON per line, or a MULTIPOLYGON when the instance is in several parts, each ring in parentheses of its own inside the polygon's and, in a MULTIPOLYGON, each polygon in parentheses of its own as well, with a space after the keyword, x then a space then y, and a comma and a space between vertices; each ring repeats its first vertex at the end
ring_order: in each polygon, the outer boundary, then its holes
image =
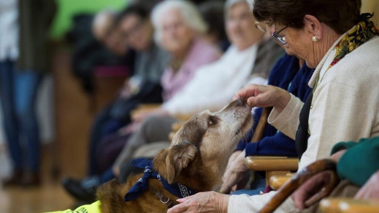
POLYGON ((233 100, 242 98, 250 107, 275 107, 281 112, 290 102, 291 95, 284 89, 276 86, 249 85, 233 97, 233 100))

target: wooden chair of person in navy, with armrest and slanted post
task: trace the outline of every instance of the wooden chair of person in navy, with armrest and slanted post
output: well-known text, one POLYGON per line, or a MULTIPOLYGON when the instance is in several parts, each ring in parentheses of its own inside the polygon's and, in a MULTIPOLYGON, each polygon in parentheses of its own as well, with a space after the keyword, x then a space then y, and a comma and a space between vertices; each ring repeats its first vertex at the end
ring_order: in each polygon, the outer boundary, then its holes
MULTIPOLYGON (((262 139, 271 110, 271 107, 263 110, 251 143, 262 139)), ((269 185, 269 180, 272 176, 287 175, 292 171, 297 171, 299 159, 278 156, 248 156, 245 163, 252 171, 266 171, 266 185, 269 185)))

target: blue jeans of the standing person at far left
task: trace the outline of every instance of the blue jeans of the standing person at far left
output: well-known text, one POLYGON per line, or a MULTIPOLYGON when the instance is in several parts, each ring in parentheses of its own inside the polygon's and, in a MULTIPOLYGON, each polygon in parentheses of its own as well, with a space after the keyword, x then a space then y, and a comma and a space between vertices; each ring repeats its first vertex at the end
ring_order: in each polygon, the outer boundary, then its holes
POLYGON ((13 61, 0 62, 0 98, 5 135, 15 170, 38 172, 39 129, 35 102, 42 74, 18 72, 13 61))

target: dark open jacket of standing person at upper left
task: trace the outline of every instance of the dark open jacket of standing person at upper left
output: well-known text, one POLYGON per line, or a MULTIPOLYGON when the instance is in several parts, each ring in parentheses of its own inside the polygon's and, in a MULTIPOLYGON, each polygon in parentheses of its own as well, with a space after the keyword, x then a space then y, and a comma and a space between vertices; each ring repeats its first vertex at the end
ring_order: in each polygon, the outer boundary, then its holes
POLYGON ((56 5, 54 0, 19 0, 20 70, 49 70, 49 27, 56 5))

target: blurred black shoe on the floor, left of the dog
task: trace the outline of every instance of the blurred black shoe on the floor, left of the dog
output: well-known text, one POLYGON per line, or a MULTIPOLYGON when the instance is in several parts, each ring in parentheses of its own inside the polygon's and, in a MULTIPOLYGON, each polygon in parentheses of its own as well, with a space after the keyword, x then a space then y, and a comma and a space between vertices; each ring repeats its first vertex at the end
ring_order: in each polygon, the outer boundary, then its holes
POLYGON ((89 177, 83 180, 66 178, 63 180, 66 191, 78 200, 94 202, 96 190, 100 186, 99 177, 89 177))

